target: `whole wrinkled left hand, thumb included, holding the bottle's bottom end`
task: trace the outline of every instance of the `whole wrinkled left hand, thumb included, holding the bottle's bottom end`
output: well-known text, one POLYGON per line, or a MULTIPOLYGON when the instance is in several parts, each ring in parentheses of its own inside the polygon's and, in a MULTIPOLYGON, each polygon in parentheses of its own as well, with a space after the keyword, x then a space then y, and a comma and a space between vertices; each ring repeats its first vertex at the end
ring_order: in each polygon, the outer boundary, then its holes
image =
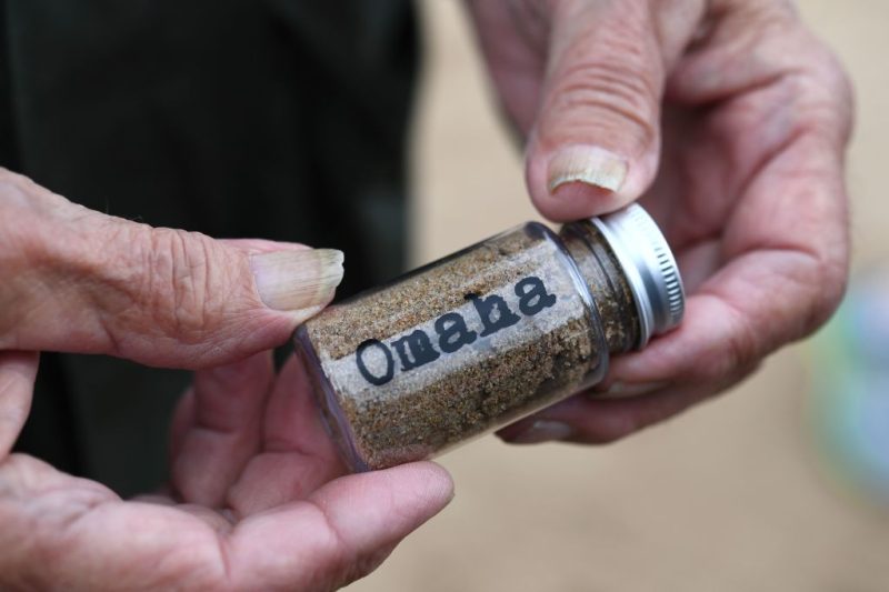
POLYGON ((328 590, 438 512, 433 464, 336 479, 301 367, 274 381, 256 353, 332 298, 341 257, 152 229, 0 170, 0 588, 328 590), (170 495, 127 502, 10 454, 40 350, 213 368, 180 404, 170 495))

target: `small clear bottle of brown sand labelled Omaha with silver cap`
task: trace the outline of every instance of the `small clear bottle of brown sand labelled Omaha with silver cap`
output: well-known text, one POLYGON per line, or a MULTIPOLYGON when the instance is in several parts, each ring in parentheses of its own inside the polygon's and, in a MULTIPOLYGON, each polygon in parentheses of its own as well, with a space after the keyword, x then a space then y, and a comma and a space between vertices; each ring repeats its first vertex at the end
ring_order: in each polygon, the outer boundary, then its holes
POLYGON ((529 222, 329 307, 296 334, 356 471, 427 459, 596 384, 611 354, 676 327, 663 235, 630 205, 529 222))

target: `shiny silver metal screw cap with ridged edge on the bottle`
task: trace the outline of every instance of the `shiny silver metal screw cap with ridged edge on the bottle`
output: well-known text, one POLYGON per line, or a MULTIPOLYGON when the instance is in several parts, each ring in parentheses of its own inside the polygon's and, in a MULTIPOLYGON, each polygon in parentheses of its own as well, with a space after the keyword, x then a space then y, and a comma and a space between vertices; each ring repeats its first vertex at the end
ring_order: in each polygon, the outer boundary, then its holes
POLYGON ((658 224, 641 205, 593 218, 620 262, 639 310, 638 348, 682 320, 686 295, 676 259, 658 224))

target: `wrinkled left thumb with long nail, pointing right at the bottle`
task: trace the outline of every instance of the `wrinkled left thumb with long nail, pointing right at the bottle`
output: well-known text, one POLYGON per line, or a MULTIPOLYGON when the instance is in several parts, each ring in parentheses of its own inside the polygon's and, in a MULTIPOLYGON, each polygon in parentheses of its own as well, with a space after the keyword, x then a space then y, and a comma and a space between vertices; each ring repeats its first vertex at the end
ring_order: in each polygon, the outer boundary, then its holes
POLYGON ((0 170, 0 349, 202 368, 287 340, 333 295, 339 251, 217 241, 87 210, 0 170))

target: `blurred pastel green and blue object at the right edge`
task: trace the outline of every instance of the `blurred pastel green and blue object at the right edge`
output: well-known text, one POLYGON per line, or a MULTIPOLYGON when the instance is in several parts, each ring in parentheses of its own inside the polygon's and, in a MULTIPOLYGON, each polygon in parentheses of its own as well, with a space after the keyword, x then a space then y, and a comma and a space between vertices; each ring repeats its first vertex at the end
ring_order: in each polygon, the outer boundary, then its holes
POLYGON ((810 351, 819 451, 841 482, 889 504, 889 269, 850 284, 810 351))

